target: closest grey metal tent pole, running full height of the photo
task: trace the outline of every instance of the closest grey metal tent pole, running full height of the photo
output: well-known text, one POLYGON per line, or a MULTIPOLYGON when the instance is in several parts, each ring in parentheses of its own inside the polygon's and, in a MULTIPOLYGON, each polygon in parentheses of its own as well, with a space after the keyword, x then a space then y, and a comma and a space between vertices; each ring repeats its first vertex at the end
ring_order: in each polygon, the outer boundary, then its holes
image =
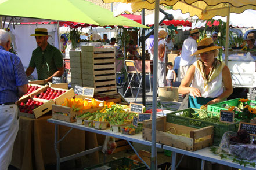
POLYGON ((156 152, 156 109, 157 109, 157 68, 158 68, 158 28, 159 28, 159 0, 155 1, 154 15, 154 60, 153 60, 153 103, 152 103, 152 142, 150 169, 157 169, 156 152))

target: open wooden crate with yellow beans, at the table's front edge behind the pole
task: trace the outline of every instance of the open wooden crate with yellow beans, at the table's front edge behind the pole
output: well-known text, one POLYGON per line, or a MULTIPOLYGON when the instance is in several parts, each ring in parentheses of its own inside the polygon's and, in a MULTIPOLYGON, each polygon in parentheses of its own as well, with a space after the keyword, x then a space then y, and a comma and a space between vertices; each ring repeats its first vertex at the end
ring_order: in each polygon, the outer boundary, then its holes
MULTIPOLYGON (((152 120, 143 121, 142 138, 146 141, 151 141, 152 137, 152 120)), ((156 120, 156 142, 164 145, 178 147, 188 151, 196 151, 204 147, 211 146, 213 143, 214 127, 208 126, 200 129, 190 128, 183 125, 166 122, 166 117, 159 117, 156 120), (171 129, 170 129, 171 128, 171 129), (166 130, 176 134, 190 134, 190 138, 169 134, 166 130), (203 138, 204 141, 197 142, 196 139, 203 138)))

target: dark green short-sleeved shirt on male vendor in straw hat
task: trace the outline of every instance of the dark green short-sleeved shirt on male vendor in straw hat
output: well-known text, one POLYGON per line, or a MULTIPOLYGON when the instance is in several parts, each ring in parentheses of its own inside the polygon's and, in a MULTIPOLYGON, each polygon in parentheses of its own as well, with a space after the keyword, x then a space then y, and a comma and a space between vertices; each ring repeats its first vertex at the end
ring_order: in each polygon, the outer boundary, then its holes
POLYGON ((57 71, 57 68, 63 67, 62 53, 49 43, 45 51, 37 47, 32 53, 29 66, 37 68, 38 80, 47 79, 57 71))

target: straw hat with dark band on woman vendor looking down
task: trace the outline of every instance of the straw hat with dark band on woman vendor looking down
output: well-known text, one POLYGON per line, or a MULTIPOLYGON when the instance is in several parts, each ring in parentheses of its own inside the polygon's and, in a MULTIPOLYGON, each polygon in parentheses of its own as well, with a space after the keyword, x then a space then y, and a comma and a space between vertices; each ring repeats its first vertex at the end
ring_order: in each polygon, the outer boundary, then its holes
POLYGON ((205 53, 207 51, 215 50, 215 49, 221 49, 222 47, 215 46, 212 38, 204 38, 202 39, 198 45, 197 45, 197 51, 194 54, 191 54, 191 56, 194 56, 196 54, 205 53))

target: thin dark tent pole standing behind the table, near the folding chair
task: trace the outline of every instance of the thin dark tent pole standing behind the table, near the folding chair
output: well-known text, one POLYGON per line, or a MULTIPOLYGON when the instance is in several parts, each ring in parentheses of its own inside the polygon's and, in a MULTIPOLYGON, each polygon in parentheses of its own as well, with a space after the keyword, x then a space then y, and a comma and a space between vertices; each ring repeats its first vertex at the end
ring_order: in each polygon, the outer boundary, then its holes
MULTIPOLYGON (((145 9, 143 9, 141 13, 141 24, 145 25, 145 9)), ((142 28, 141 37, 142 37, 142 42, 141 42, 142 44, 142 104, 146 106, 145 28, 142 28)))

